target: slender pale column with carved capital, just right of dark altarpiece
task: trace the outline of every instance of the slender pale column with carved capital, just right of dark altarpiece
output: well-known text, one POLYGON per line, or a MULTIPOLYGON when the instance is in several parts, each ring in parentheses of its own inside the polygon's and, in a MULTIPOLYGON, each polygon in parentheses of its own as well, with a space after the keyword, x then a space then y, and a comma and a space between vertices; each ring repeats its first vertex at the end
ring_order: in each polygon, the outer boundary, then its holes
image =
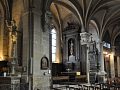
POLYGON ((80 33, 81 36, 81 45, 86 45, 86 72, 87 72, 87 82, 90 83, 90 79, 89 79, 89 60, 88 60, 88 52, 89 52, 89 38, 90 38, 90 33, 87 32, 83 32, 80 33))

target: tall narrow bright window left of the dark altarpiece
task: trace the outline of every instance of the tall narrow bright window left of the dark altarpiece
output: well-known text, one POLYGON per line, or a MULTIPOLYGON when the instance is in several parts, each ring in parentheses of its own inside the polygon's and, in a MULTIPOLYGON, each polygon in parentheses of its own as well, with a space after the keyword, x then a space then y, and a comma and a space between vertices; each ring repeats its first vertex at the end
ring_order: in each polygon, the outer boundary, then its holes
POLYGON ((56 30, 52 28, 51 30, 52 36, 52 62, 56 61, 56 30))

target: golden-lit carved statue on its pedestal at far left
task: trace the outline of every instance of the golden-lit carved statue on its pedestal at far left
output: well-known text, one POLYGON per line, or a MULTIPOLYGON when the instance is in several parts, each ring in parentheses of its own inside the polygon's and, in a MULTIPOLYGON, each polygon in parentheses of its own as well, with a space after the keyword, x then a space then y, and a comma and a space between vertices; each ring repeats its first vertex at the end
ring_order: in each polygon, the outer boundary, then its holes
POLYGON ((16 65, 18 63, 17 61, 17 26, 16 21, 12 20, 11 22, 6 21, 6 25, 9 32, 9 58, 11 58, 10 62, 10 69, 11 69, 11 75, 14 75, 16 73, 16 65))

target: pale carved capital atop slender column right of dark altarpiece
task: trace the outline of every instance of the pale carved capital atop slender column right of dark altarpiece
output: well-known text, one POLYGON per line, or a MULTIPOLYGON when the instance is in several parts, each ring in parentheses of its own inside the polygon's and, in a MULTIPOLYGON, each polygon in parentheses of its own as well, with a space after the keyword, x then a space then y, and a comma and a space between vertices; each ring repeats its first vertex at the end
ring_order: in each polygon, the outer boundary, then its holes
POLYGON ((82 33, 80 33, 80 36, 81 36, 81 44, 82 45, 89 43, 89 38, 91 36, 90 33, 82 32, 82 33))

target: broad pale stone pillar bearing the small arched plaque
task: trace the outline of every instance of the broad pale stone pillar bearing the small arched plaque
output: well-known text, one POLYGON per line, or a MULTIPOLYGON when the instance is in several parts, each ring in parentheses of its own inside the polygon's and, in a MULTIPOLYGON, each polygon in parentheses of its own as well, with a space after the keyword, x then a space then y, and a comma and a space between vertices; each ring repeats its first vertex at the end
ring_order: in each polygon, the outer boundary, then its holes
POLYGON ((49 56, 50 50, 50 19, 51 13, 46 12, 45 28, 41 28, 41 15, 33 13, 34 15, 34 39, 33 39, 33 90, 50 90, 51 86, 51 62, 49 56), (48 68, 43 69, 42 58, 48 58, 48 68))

